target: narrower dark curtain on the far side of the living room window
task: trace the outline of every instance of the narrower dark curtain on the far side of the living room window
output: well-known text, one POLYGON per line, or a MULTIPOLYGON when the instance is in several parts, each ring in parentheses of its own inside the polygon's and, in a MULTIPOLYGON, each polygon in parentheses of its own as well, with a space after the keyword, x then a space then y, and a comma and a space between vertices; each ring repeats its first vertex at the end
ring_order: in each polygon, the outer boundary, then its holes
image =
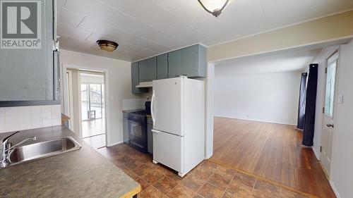
POLYGON ((305 99, 306 99, 306 79, 308 73, 301 73, 300 91, 299 91, 299 109, 297 128, 304 129, 305 119, 305 99))

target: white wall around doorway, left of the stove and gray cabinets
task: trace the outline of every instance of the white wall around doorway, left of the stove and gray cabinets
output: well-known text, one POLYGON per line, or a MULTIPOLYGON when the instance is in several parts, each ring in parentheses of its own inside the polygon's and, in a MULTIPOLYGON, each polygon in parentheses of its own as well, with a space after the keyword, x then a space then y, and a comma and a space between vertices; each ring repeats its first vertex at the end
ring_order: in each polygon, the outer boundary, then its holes
POLYGON ((102 70, 106 76, 108 146, 123 142, 123 99, 140 98, 131 93, 131 63, 74 51, 61 50, 60 61, 68 68, 102 70))

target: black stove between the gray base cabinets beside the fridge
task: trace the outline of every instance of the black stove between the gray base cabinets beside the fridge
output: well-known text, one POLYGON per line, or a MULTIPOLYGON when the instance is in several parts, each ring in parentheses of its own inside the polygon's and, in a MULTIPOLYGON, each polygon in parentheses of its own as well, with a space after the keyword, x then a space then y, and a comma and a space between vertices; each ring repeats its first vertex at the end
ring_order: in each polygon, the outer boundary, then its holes
POLYGON ((145 110, 128 113, 128 144, 147 153, 147 115, 150 114, 150 101, 145 102, 145 110))

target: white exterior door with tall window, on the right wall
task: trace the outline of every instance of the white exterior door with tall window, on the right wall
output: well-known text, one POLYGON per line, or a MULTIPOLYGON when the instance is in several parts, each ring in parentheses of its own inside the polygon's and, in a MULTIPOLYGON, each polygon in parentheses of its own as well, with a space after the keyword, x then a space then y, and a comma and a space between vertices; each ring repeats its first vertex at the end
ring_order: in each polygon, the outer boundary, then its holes
POLYGON ((323 135, 321 136, 321 163, 327 175, 330 175, 333 132, 335 128, 335 82, 338 66, 338 51, 327 60, 325 75, 325 107, 323 109, 323 135))

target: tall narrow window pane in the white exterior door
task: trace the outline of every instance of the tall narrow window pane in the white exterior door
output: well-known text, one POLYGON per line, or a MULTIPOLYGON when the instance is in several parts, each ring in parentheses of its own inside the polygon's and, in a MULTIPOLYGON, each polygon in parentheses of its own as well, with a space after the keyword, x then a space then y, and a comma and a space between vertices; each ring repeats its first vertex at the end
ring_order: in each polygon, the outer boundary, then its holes
MULTIPOLYGON (((336 53, 337 54, 337 53, 336 53)), ((326 95, 325 95, 325 114, 333 118, 333 107, 335 101, 335 77, 337 70, 338 56, 334 54, 328 59, 326 68, 326 95)))

